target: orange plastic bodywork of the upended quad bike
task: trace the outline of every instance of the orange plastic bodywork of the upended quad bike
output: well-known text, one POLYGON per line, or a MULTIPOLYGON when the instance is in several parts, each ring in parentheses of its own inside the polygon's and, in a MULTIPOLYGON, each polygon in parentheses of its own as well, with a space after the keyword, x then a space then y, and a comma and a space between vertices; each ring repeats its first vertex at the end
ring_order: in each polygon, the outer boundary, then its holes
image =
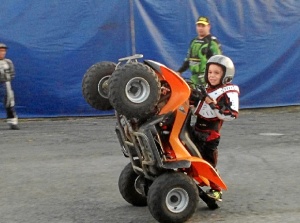
POLYGON ((179 138, 182 126, 190 109, 190 87, 184 79, 171 69, 161 66, 160 70, 161 73, 159 74, 159 78, 167 80, 171 88, 171 96, 167 104, 160 111, 159 115, 166 114, 170 111, 175 113, 175 120, 170 133, 169 143, 176 158, 169 161, 188 160, 191 162, 189 175, 191 175, 196 181, 204 183, 207 186, 209 186, 210 182, 213 182, 222 189, 227 189, 227 186, 215 169, 201 157, 191 156, 179 138))

